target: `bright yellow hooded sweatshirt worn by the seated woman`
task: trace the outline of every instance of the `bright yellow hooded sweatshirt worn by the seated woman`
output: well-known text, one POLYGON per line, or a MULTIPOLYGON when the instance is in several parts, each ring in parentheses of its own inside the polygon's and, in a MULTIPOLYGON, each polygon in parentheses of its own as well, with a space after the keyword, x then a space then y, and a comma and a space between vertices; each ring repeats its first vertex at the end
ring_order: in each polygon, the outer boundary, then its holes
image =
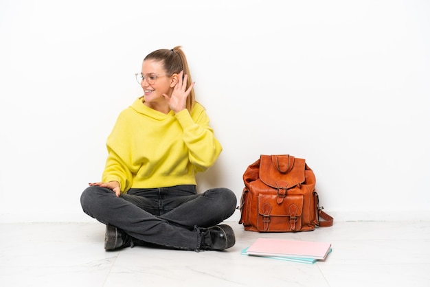
POLYGON ((201 104, 167 115, 137 99, 120 113, 106 141, 102 181, 133 188, 196 185, 196 172, 210 168, 222 150, 201 104))

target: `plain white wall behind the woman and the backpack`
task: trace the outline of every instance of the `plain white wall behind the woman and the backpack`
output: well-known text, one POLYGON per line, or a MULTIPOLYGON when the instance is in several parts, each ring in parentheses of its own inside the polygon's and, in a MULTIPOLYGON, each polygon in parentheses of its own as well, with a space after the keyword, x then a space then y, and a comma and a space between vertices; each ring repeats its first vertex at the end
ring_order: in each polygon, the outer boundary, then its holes
MULTIPOLYGON (((429 220, 428 1, 0 1, 0 221, 93 221, 104 143, 150 51, 182 45, 223 153, 304 158, 335 220, 429 220)), ((231 220, 238 220, 236 211, 231 220)))

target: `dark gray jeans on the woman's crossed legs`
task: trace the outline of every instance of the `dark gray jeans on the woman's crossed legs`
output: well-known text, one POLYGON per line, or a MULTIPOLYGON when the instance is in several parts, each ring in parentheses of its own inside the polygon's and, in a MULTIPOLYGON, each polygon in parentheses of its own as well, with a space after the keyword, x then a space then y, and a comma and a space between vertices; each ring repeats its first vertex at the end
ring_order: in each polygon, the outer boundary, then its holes
POLYGON ((195 185, 131 189, 115 196, 104 187, 87 187, 80 197, 83 211, 144 242, 174 249, 196 250, 201 228, 218 225, 236 209, 227 188, 197 194, 195 185))

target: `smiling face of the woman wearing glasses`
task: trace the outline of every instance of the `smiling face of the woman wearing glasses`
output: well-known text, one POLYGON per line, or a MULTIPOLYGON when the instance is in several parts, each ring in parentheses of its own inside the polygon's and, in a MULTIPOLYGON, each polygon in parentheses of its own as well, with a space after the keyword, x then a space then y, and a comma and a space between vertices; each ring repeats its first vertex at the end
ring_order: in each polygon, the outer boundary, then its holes
POLYGON ((172 93, 172 76, 166 75, 161 62, 144 60, 142 63, 142 75, 144 80, 140 83, 144 89, 146 104, 163 104, 166 100, 163 93, 172 93))

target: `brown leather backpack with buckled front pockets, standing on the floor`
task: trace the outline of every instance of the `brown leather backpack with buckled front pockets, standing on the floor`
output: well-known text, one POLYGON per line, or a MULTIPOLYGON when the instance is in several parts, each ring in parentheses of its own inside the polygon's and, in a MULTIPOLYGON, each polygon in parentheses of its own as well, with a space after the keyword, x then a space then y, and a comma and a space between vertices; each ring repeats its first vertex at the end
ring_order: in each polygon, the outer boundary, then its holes
POLYGON ((248 166, 243 181, 239 223, 247 231, 312 231, 315 226, 333 224, 333 218, 319 207, 315 174, 304 159, 262 154, 248 166))

